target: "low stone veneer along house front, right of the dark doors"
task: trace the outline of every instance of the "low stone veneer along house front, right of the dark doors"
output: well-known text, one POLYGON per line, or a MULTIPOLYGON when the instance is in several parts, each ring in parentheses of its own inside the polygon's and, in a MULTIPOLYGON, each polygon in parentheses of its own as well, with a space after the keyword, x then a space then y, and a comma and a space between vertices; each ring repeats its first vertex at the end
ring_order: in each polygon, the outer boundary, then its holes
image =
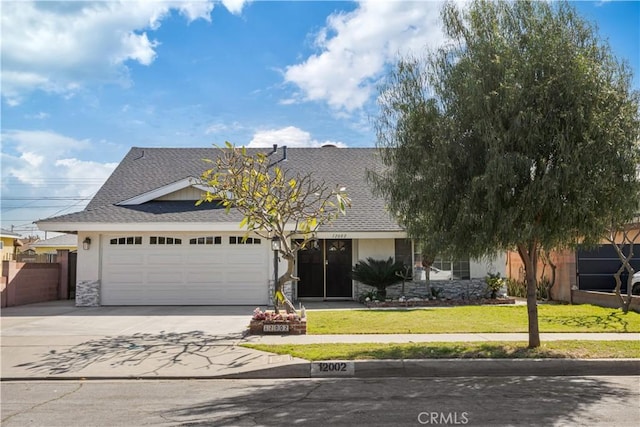
MULTIPOLYGON (((404 296, 411 298, 429 298, 431 297, 431 288, 440 290, 440 297, 446 299, 479 299, 487 298, 491 292, 487 288, 484 279, 470 280, 441 280, 431 281, 427 283, 424 280, 414 280, 404 284, 404 295, 402 295, 402 283, 398 283, 387 288, 388 299, 398 299, 404 296)), ((372 291, 373 287, 356 282, 356 299, 360 296, 372 291)), ((503 288, 498 295, 506 295, 506 287, 503 288)))

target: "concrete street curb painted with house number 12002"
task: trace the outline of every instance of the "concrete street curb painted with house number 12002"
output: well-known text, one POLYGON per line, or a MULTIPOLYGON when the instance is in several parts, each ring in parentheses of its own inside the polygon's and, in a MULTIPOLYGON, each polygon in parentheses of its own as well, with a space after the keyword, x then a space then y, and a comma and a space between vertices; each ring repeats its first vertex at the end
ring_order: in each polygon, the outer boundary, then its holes
POLYGON ((640 359, 401 359, 294 362, 222 375, 3 377, 0 381, 43 380, 206 380, 284 378, 640 376, 640 359), (314 368, 314 364, 316 365, 314 368), (318 365, 344 365, 344 371, 318 373, 318 365), (348 369, 346 369, 348 368, 348 369))

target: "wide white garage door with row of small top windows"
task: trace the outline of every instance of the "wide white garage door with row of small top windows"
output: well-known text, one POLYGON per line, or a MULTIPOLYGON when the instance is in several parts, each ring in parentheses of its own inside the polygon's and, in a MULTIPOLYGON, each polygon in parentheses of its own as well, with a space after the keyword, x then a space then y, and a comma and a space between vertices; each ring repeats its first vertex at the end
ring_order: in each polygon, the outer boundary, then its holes
POLYGON ((264 239, 118 235, 102 241, 103 305, 260 305, 268 301, 264 239))

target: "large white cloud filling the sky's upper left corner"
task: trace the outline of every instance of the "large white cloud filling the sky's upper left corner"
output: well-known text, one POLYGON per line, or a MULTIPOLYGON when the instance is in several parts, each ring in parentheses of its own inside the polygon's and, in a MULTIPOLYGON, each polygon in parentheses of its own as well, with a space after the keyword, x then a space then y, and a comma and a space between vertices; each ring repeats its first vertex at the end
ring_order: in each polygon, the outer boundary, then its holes
POLYGON ((212 1, 2 3, 2 96, 19 104, 34 90, 72 94, 87 82, 128 83, 127 61, 150 65, 148 31, 172 10, 211 20, 212 1))

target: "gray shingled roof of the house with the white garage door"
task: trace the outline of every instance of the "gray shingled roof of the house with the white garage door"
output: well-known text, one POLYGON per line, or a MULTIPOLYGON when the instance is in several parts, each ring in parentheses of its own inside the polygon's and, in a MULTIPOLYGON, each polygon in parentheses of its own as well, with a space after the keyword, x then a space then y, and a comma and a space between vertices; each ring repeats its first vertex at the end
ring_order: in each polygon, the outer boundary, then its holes
MULTIPOLYGON (((265 149, 249 149, 250 154, 268 153, 265 149)), ((140 148, 134 147, 107 179, 95 197, 81 212, 38 221, 50 228, 56 223, 167 223, 167 222, 240 222, 239 212, 228 214, 215 203, 196 207, 193 201, 149 201, 139 205, 118 203, 185 179, 199 177, 208 167, 203 159, 215 158, 217 148, 140 148)), ((280 148, 273 154, 282 159, 280 148)), ((320 231, 382 232, 402 231, 369 188, 366 170, 379 170, 381 161, 374 148, 289 148, 287 160, 279 165, 291 173, 312 173, 317 181, 330 187, 346 187, 352 208, 320 231)), ((98 229, 98 227, 96 227, 98 229)), ((74 230, 67 230, 74 231, 74 230)))

